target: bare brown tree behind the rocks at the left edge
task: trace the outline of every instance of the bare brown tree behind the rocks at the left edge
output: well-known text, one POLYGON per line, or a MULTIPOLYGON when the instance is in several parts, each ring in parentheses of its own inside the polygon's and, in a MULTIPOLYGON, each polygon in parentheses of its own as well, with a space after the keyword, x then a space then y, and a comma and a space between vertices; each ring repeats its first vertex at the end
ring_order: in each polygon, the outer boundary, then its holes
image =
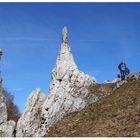
POLYGON ((2 93, 4 102, 7 106, 8 120, 14 120, 15 122, 17 122, 19 117, 21 116, 21 113, 17 105, 14 103, 14 96, 6 89, 3 89, 2 93))

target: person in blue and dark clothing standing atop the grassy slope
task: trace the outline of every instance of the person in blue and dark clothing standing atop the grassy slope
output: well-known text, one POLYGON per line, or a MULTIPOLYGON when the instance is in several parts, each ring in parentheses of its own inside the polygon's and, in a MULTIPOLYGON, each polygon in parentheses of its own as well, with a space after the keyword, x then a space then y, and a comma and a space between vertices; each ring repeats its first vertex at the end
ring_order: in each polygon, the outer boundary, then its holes
POLYGON ((121 79, 125 80, 125 75, 126 75, 126 64, 124 63, 124 61, 122 61, 119 66, 118 69, 120 70, 121 73, 121 79))

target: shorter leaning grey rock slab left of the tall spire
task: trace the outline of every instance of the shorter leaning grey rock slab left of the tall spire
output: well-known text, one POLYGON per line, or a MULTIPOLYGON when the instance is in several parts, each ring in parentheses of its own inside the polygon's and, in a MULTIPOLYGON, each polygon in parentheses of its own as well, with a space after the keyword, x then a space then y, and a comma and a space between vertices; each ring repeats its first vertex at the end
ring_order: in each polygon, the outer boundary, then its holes
POLYGON ((16 136, 33 136, 41 124, 41 109, 46 95, 35 89, 29 96, 24 113, 17 122, 16 136))

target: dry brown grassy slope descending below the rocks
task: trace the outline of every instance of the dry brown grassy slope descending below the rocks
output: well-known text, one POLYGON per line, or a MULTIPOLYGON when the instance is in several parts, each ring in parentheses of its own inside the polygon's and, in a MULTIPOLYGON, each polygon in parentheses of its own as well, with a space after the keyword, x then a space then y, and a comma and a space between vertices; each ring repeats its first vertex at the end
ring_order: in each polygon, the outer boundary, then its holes
POLYGON ((140 136, 140 80, 129 81, 99 102, 64 117, 46 136, 140 136))

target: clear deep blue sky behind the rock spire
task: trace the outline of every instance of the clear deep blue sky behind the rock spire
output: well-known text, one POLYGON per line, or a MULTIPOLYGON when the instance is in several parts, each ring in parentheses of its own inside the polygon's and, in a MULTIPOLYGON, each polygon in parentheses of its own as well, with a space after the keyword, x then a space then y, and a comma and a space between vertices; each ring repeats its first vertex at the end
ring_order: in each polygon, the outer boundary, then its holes
POLYGON ((3 86, 21 112, 33 89, 48 94, 65 25, 76 64, 98 82, 122 59, 140 70, 140 3, 0 3, 3 86))

